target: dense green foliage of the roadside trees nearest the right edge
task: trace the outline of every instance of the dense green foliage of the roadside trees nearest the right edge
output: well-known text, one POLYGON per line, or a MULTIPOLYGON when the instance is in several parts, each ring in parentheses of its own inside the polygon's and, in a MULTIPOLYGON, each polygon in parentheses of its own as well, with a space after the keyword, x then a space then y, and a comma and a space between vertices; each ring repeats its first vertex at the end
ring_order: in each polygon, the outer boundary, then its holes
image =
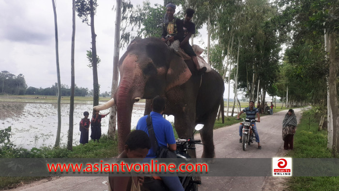
POLYGON ((282 80, 280 75, 279 95, 285 94, 288 86, 293 100, 324 105, 329 72, 324 29, 338 31, 339 3, 337 0, 278 0, 277 5, 281 10, 277 17, 280 19, 275 20, 280 25, 279 32, 290 32, 293 36, 285 52, 282 66, 285 78, 282 80))

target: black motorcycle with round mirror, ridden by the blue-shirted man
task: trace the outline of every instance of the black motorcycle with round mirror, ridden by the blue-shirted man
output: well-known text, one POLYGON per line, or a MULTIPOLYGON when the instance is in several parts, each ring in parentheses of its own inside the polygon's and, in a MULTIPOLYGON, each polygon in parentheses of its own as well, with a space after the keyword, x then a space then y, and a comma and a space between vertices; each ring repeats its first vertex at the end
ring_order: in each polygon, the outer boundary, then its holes
MULTIPOLYGON (((198 124, 195 127, 195 131, 200 130, 203 127, 203 125, 198 124)), ((194 133, 192 134, 191 137, 194 137, 194 133)), ((177 144, 177 150, 175 151, 175 154, 177 158, 179 159, 186 159, 187 162, 191 161, 191 157, 188 154, 189 149, 195 150, 194 144, 203 144, 201 143, 201 140, 194 140, 193 138, 188 138, 188 139, 177 139, 176 140, 177 144)), ((198 191, 198 185, 201 184, 200 180, 197 180, 196 177, 193 174, 188 174, 185 176, 178 176, 180 182, 182 183, 184 190, 185 191, 198 191)), ((157 177, 159 178, 159 177, 157 177)), ((161 186, 152 186, 148 185, 147 191, 167 191, 167 188, 164 185, 164 183, 155 183, 155 184, 161 184, 161 186), (156 188, 155 188, 156 187, 156 188)))

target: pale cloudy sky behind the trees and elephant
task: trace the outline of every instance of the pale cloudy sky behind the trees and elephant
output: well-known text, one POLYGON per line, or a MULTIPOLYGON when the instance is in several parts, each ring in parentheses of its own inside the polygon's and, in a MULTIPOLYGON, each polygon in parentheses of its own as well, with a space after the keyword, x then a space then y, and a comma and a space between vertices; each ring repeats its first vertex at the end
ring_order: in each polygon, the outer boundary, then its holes
MULTIPOLYGON (((72 1, 55 0, 58 21, 61 83, 71 85, 72 1)), ((131 0, 137 5, 141 0, 131 0)), ((162 1, 150 0, 162 4, 162 1)), ((100 92, 110 92, 116 0, 98 0, 94 17, 100 92)), ((207 30, 199 31, 194 44, 207 46, 207 30)), ((91 46, 91 28, 76 16, 75 83, 92 90, 92 69, 86 58, 91 46)), ((126 48, 120 50, 120 57, 126 48)), ((30 87, 51 87, 57 82, 55 28, 52 0, 0 0, 0 71, 23 74, 30 87)), ((206 57, 205 57, 206 60, 206 57)), ((227 97, 227 86, 224 97, 227 97)), ((230 97, 233 98, 231 90, 230 97)), ((240 98, 240 97, 239 97, 240 98)))

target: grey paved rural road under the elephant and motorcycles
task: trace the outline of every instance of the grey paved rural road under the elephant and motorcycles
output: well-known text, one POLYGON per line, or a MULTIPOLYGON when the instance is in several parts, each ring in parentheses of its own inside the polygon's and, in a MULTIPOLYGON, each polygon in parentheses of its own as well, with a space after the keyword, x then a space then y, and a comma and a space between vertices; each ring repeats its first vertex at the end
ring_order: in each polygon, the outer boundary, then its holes
MULTIPOLYGON (((295 109, 298 122, 301 116, 301 109, 295 109)), ((223 127, 214 130, 214 143, 216 147, 216 158, 273 158, 281 157, 283 141, 281 139, 281 124, 286 111, 280 111, 273 115, 260 118, 257 123, 262 150, 257 149, 257 143, 248 146, 246 151, 242 150, 239 143, 239 124, 223 127)), ((199 139, 199 137, 196 137, 199 139)), ((197 145, 197 156, 201 156, 202 147, 197 145)), ((108 187, 102 182, 107 177, 60 177, 52 180, 41 180, 28 185, 20 186, 17 191, 49 191, 49 190, 93 190, 106 191, 108 187)), ((266 188, 267 177, 246 176, 246 177, 201 177, 202 185, 199 191, 261 191, 270 190, 266 188), (248 184, 250 182, 251 184, 248 184)))

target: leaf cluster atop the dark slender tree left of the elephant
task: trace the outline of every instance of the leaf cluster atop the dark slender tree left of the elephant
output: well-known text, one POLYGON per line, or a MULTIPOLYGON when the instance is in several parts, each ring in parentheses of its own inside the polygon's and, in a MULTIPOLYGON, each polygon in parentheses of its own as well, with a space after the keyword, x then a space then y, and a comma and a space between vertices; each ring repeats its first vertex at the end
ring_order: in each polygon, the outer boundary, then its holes
MULTIPOLYGON (((96 13, 96 7, 98 4, 96 0, 93 0, 93 11, 96 13)), ((77 16, 81 18, 83 23, 89 24, 89 16, 91 15, 90 0, 76 0, 76 12, 77 16)))

